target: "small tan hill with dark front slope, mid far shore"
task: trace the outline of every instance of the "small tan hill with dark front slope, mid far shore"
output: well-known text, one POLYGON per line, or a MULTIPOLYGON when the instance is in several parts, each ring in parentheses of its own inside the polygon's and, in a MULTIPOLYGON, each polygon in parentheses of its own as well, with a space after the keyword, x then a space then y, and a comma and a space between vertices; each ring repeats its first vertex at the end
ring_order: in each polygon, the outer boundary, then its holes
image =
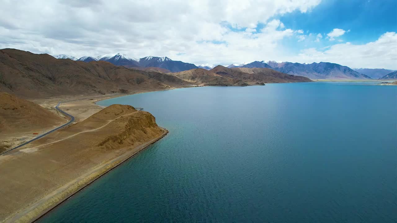
POLYGON ((174 76, 195 85, 201 86, 246 86, 247 83, 244 83, 240 79, 235 79, 231 77, 224 77, 222 75, 218 75, 212 71, 208 71, 206 69, 198 68, 191 69, 188 71, 181 71, 178 73, 173 73, 174 76))

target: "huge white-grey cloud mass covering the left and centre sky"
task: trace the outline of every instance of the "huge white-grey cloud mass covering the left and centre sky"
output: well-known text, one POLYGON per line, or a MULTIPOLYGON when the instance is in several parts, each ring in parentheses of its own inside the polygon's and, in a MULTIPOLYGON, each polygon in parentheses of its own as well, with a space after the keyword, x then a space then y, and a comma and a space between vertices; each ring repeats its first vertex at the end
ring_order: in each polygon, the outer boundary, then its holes
MULTIPOLYGON (((168 56, 195 64, 295 62, 291 56, 295 50, 286 48, 282 42, 292 37, 314 40, 314 35, 305 36, 303 30, 293 30, 274 18, 294 11, 308 13, 320 3, 320 0, 0 1, 0 48, 75 57, 120 52, 135 58, 168 56)), ((316 58, 304 62, 313 60, 316 58)))

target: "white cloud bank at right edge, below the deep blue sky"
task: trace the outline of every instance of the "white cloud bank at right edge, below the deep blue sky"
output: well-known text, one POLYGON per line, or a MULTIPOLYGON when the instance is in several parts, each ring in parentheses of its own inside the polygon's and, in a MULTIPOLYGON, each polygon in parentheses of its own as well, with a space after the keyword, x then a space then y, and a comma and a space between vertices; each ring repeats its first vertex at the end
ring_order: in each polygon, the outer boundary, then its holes
POLYGON ((294 62, 331 62, 348 67, 397 69, 397 33, 387 32, 374 42, 331 45, 324 51, 308 48, 289 58, 294 62))

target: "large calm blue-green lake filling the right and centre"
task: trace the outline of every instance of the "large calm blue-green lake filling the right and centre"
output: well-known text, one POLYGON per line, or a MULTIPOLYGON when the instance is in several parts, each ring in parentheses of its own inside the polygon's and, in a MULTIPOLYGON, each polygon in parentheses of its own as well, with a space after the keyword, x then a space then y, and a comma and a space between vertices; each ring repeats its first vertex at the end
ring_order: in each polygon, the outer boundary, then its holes
POLYGON ((49 222, 396 222, 397 87, 319 82, 113 98, 170 133, 49 222))

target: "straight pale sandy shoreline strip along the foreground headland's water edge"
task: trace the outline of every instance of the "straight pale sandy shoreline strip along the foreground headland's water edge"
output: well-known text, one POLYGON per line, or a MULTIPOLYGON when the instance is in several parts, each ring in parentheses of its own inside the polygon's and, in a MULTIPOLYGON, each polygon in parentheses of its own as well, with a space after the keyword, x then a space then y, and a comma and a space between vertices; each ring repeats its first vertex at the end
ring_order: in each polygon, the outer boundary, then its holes
POLYGON ((50 194, 40 198, 32 204, 29 204, 27 207, 19 210, 18 212, 10 215, 8 219, 3 219, 2 222, 36 222, 41 219, 48 212, 54 210, 54 208, 60 206, 63 202, 71 198, 73 195, 77 194, 87 186, 94 183, 97 179, 118 167, 121 163, 133 158, 136 154, 147 148, 148 146, 156 143, 158 140, 164 138, 169 131, 160 127, 163 130, 163 134, 154 138, 145 144, 142 144, 137 147, 137 150, 126 152, 106 163, 102 163, 101 165, 94 167, 87 173, 81 175, 77 179, 70 181, 66 185, 61 186, 60 188, 54 190, 50 194))

